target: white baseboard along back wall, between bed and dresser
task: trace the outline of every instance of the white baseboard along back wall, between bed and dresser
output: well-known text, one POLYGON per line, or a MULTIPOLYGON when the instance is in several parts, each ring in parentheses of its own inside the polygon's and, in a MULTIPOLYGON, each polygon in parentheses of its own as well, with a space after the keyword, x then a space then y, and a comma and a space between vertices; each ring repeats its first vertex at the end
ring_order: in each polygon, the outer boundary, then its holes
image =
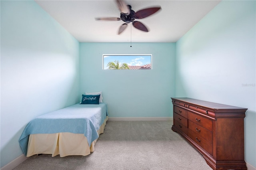
POLYGON ((172 117, 108 117, 108 121, 172 121, 172 117))

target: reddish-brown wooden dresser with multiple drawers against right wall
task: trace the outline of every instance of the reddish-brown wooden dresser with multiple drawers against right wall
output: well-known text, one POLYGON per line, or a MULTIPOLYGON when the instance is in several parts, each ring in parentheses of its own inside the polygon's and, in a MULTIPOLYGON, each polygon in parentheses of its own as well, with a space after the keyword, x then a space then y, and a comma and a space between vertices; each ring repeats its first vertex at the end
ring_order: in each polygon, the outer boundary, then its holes
POLYGON ((190 98, 171 98, 172 130, 183 136, 214 170, 246 170, 244 117, 247 109, 190 98))

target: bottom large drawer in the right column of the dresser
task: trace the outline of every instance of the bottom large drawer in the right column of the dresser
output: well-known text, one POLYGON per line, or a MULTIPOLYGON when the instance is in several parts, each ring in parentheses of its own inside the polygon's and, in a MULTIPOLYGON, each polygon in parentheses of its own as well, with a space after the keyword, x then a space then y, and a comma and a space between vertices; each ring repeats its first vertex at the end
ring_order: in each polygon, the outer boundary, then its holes
POLYGON ((202 136, 194 133, 192 130, 188 129, 188 137, 190 137, 194 142, 201 146, 206 152, 212 155, 212 144, 205 140, 202 136))

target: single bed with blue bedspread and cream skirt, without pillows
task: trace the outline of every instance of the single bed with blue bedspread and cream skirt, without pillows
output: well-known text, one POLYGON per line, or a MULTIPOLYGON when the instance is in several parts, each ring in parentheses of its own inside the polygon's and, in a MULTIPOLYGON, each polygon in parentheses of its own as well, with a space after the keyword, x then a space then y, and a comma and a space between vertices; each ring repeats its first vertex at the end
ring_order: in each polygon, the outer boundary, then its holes
POLYGON ((26 156, 86 156, 94 151, 108 120, 106 103, 75 104, 41 115, 28 123, 19 139, 26 156))

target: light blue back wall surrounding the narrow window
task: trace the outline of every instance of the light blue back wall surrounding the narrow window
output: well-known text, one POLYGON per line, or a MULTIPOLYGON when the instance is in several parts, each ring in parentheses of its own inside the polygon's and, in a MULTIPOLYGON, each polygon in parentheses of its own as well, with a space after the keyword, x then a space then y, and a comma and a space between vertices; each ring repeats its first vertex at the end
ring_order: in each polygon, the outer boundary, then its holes
POLYGON ((109 117, 172 117, 175 43, 80 43, 80 94, 102 91, 109 117), (103 70, 102 54, 152 54, 152 70, 103 70))

